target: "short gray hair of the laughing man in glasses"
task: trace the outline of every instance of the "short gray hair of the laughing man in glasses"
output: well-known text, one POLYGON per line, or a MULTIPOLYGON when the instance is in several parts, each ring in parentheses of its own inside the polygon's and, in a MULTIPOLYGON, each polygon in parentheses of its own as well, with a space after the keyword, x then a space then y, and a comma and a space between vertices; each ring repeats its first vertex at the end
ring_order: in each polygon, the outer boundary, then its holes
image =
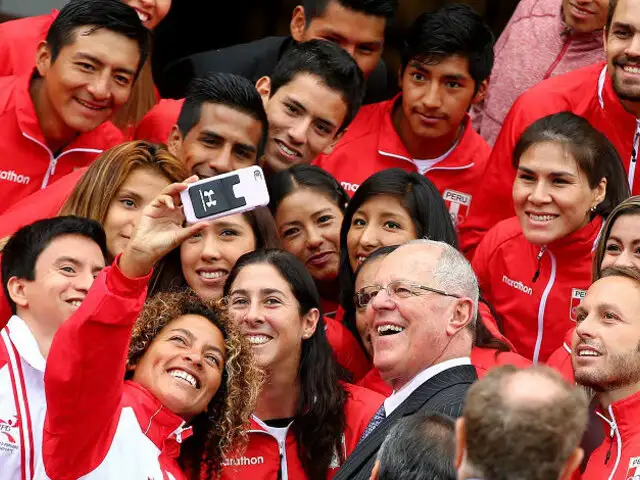
POLYGON ((471 299, 473 302, 473 312, 471 318, 472 327, 475 328, 475 318, 478 313, 478 299, 480 289, 478 279, 471 268, 469 261, 454 247, 444 242, 437 242, 427 238, 411 240, 407 245, 425 245, 442 250, 440 258, 433 271, 433 279, 438 287, 447 293, 455 293, 462 297, 471 299))

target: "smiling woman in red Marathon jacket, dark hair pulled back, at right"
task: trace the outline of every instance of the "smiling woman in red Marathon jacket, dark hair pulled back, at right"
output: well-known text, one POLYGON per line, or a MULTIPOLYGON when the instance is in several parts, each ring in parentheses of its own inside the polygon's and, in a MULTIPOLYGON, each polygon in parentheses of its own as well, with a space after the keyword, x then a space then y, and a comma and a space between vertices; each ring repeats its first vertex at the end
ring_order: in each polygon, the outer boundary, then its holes
POLYGON ((513 163, 516 216, 487 233, 473 267, 505 336, 518 353, 543 362, 571 328, 603 221, 629 187, 611 143, 568 112, 527 128, 513 163))

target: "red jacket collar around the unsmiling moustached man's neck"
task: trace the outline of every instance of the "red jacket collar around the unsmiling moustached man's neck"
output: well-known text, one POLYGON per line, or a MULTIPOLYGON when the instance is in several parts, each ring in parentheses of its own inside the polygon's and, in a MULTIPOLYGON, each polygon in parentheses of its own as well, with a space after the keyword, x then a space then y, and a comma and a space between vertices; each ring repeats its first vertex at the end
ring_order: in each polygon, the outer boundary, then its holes
MULTIPOLYGON (((407 147, 402 143, 400 135, 396 131, 396 127, 393 125, 393 109, 395 105, 401 102, 402 93, 396 95, 392 100, 387 102, 387 108, 384 112, 382 125, 380 127, 380 133, 378 134, 378 153, 385 157, 398 158, 410 162, 412 165, 413 158, 407 151, 407 147)), ((455 145, 446 158, 440 161, 433 170, 462 170, 473 167, 473 161, 461 161, 457 152, 465 152, 468 149, 473 148, 472 145, 472 128, 469 119, 469 115, 465 116, 464 131, 462 137, 458 139, 458 143, 455 145)), ((424 159, 419 159, 424 160, 424 159)))

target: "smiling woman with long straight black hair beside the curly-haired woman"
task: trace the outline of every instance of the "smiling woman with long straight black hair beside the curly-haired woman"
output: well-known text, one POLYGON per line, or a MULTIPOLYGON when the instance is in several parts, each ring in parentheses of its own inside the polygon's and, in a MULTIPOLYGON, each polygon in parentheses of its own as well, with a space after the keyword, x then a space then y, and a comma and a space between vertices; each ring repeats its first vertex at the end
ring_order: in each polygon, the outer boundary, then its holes
POLYGON ((313 278, 292 254, 261 250, 242 256, 224 293, 265 381, 245 454, 260 455, 264 463, 229 458, 222 478, 331 478, 383 397, 341 381, 313 278))

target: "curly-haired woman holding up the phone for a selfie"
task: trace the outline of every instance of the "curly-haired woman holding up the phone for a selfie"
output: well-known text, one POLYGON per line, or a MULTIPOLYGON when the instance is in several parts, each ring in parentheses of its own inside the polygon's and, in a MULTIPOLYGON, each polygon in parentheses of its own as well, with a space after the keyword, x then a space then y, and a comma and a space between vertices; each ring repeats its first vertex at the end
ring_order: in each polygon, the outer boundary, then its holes
POLYGON ((183 226, 186 187, 168 186, 144 209, 56 334, 45 373, 49 478, 210 478, 241 443, 259 375, 238 330, 187 293, 143 308, 153 266, 205 226, 183 226))

